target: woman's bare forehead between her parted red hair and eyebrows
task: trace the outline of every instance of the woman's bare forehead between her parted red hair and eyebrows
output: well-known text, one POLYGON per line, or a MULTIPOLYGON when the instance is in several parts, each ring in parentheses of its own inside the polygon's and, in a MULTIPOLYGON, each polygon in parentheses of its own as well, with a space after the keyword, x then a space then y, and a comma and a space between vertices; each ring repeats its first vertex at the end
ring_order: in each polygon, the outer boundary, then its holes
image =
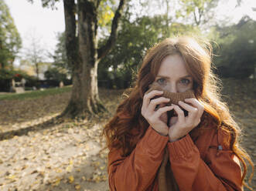
POLYGON ((168 55, 162 60, 157 75, 168 76, 170 79, 189 75, 185 62, 180 55, 168 55))

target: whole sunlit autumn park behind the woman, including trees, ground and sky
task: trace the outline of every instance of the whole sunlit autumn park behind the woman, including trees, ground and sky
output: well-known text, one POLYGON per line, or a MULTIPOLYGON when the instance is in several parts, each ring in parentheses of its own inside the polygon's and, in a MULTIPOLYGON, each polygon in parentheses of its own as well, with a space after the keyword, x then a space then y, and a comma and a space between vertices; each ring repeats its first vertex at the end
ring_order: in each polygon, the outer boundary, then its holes
POLYGON ((255 162, 255 1, 86 3, 0 0, 1 190, 108 190, 103 126, 147 49, 174 35, 210 40, 223 99, 255 162))

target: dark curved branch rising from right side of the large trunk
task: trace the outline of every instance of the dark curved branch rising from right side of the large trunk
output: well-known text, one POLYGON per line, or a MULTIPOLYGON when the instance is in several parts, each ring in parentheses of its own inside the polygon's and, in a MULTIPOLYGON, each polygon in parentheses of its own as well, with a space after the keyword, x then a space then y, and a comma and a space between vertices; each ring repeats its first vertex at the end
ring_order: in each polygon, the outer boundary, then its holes
POLYGON ((97 59, 104 58, 104 56, 107 55, 108 52, 110 52, 111 49, 113 49, 114 47, 114 43, 117 39, 118 22, 119 22, 119 19, 121 18, 121 12, 124 8, 125 1, 126 0, 120 0, 119 2, 118 9, 114 14, 114 18, 111 25, 111 35, 109 36, 106 44, 97 50, 97 59))

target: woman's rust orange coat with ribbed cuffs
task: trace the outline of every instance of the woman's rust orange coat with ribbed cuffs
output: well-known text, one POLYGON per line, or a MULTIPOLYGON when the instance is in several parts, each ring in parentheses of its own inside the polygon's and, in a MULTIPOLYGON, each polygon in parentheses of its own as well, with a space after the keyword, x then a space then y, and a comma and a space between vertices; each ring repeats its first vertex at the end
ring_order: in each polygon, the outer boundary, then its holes
POLYGON ((166 146, 180 191, 243 190, 241 167, 234 160, 226 132, 209 128, 195 141, 188 134, 169 142, 168 136, 159 135, 151 126, 129 156, 122 157, 121 150, 110 149, 110 190, 157 191, 155 177, 166 146))

